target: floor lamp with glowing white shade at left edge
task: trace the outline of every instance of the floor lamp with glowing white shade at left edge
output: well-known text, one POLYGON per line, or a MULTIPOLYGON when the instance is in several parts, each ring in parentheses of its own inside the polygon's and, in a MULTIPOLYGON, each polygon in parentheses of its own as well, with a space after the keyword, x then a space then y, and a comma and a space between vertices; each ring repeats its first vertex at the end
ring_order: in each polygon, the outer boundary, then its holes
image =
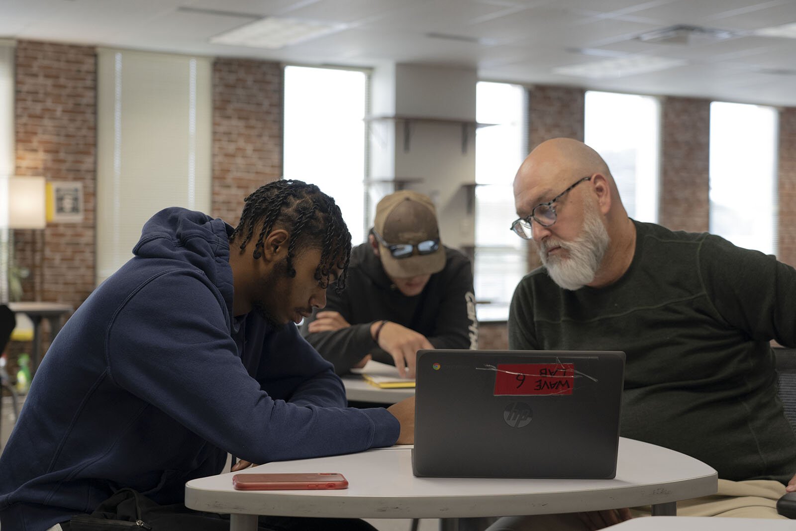
MULTIPOLYGON (((45 178, 43 177, 5 177, 0 178, 0 228, 2 228, 2 282, 0 282, 0 302, 16 299, 18 293, 11 294, 12 275, 16 275, 14 260, 14 230, 37 229, 47 225, 45 210, 45 178)), ((36 238, 34 257, 38 261, 38 238, 36 238)), ((43 259, 43 257, 42 257, 43 259)), ((43 260, 41 260, 43 262, 43 260)), ((36 267, 44 264, 37 263, 36 267)))

